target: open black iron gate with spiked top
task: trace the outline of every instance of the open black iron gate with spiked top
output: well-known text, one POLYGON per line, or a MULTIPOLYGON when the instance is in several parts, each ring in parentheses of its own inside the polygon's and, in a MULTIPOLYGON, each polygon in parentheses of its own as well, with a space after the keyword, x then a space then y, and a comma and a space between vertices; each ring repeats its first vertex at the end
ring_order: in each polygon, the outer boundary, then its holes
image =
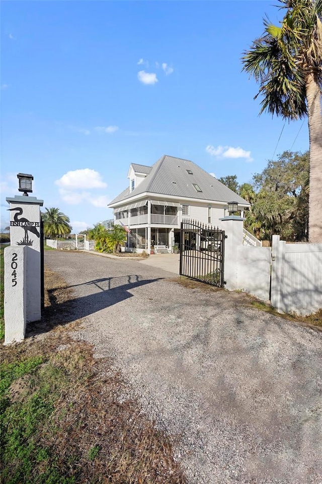
POLYGON ((194 220, 183 220, 180 232, 180 275, 221 287, 225 232, 194 220))

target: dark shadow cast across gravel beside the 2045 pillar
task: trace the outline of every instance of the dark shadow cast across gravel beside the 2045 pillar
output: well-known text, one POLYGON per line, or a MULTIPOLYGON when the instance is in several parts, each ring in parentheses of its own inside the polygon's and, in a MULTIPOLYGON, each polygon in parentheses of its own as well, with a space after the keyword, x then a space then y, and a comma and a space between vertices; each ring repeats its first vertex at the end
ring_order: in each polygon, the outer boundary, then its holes
POLYGON ((66 293, 69 292, 69 297, 63 302, 58 302, 61 301, 61 289, 59 289, 59 294, 57 289, 48 290, 50 306, 45 308, 41 321, 28 324, 26 338, 46 333, 55 326, 72 323, 97 313, 133 297, 133 294, 129 292, 131 289, 162 279, 163 277, 142 279, 142 276, 138 274, 94 279, 65 287, 64 290, 66 293))

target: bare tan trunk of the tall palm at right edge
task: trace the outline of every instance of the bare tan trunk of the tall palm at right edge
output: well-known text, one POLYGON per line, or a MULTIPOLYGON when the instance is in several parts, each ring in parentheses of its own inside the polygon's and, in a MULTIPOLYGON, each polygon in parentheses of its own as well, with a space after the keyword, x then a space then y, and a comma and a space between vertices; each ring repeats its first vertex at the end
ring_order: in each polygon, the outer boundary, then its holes
POLYGON ((310 182, 308 238, 322 243, 322 112, 321 92, 314 73, 306 80, 308 133, 310 142, 310 182))

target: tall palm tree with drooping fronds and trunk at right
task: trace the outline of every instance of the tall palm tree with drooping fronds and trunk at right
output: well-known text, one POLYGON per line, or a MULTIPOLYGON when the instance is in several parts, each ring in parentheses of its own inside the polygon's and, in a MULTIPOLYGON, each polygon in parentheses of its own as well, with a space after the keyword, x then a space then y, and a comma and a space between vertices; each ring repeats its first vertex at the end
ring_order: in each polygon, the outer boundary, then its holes
POLYGON ((279 0, 286 14, 265 32, 241 61, 260 84, 263 111, 284 119, 308 117, 310 179, 309 240, 322 241, 322 0, 279 0))

